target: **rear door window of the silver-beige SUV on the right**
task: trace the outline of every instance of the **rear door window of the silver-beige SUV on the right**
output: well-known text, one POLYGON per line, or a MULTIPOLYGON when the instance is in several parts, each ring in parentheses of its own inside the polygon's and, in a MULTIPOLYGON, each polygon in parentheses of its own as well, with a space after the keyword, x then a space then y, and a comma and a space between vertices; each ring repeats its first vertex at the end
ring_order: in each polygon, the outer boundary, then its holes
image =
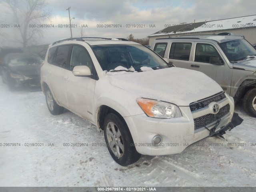
POLYGON ((189 60, 192 43, 172 43, 169 58, 177 60, 189 60))

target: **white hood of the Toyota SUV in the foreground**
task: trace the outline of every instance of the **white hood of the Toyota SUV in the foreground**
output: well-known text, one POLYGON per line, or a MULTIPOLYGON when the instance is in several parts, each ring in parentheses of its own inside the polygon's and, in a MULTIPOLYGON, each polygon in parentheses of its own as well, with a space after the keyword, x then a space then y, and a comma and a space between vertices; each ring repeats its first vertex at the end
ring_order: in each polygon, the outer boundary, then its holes
POLYGON ((195 70, 165 68, 138 73, 109 75, 110 83, 138 97, 189 106, 190 103, 223 91, 211 78, 195 70))

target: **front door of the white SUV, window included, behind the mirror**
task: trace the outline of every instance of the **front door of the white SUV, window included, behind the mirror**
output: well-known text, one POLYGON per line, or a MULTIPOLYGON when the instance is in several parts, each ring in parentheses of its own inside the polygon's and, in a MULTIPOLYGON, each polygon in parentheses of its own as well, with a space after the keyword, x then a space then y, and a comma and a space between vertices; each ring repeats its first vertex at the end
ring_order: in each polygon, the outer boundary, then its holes
MULTIPOLYGON (((85 45, 86 46, 86 45, 85 45)), ((90 48, 88 46, 88 48, 90 48)), ((96 70, 92 59, 84 46, 72 45, 70 66, 64 74, 68 108, 73 112, 94 121, 94 87, 96 80, 92 76, 74 76, 72 70, 75 66, 85 65, 95 75, 96 70)))

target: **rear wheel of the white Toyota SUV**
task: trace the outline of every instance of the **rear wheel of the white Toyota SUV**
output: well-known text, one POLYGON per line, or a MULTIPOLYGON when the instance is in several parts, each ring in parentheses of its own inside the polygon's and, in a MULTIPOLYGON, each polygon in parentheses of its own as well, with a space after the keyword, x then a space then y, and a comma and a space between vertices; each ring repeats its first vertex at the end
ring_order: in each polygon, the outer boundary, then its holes
POLYGON ((51 114, 59 115, 63 113, 64 108, 56 103, 49 88, 45 90, 45 99, 46 105, 51 114))

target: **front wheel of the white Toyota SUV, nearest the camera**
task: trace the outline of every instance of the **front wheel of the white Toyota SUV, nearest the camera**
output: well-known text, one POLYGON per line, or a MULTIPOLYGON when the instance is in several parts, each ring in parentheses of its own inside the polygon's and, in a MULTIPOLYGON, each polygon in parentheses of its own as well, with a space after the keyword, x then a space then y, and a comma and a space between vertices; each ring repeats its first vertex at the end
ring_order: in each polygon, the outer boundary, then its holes
POLYGON ((110 155, 118 164, 128 166, 140 159, 141 154, 136 151, 128 126, 116 114, 106 115, 104 137, 110 155))

